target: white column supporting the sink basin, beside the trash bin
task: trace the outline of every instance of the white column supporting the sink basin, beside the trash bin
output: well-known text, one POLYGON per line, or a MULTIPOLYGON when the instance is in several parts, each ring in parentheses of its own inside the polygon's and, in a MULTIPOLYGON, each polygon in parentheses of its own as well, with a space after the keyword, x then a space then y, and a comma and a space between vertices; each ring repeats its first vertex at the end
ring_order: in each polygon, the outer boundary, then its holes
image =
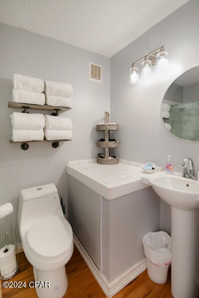
POLYGON ((172 267, 171 288, 174 298, 197 298, 196 211, 171 206, 172 267))

